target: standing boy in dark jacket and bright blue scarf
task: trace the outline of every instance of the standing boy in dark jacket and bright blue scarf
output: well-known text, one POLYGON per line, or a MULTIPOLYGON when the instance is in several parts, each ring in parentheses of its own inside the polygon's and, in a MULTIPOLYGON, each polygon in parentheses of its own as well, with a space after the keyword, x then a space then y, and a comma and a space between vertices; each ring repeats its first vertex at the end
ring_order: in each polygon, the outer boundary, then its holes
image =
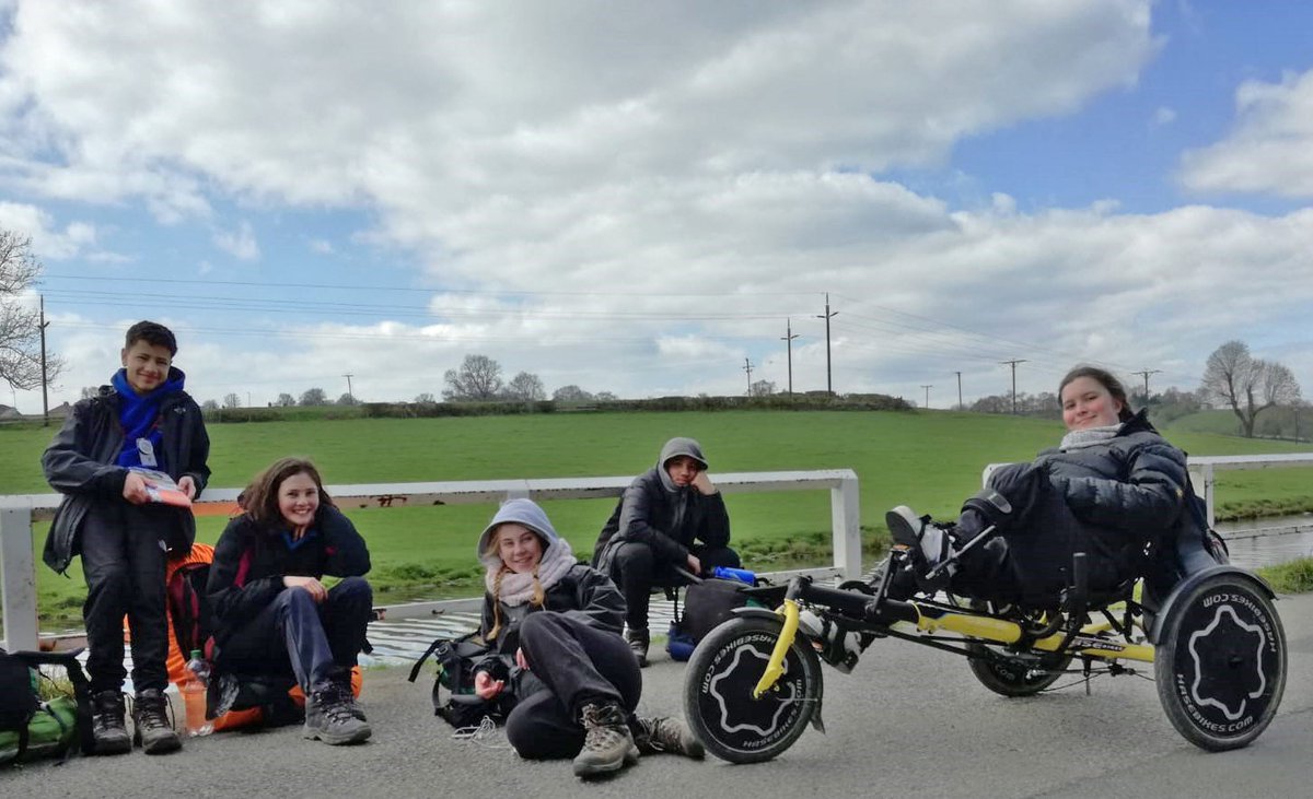
POLYGON ((210 476, 210 440, 196 401, 172 366, 177 340, 164 325, 139 321, 127 331, 123 367, 109 386, 79 401, 42 457, 46 480, 64 495, 46 538, 45 562, 64 573, 81 555, 87 577, 87 670, 92 735, 98 754, 140 745, 147 754, 175 752, 181 739, 168 722, 164 562, 196 538, 189 508, 151 501, 150 480, 134 467, 168 474, 194 499, 210 476), (133 634, 134 733, 123 719, 123 615, 133 634))

